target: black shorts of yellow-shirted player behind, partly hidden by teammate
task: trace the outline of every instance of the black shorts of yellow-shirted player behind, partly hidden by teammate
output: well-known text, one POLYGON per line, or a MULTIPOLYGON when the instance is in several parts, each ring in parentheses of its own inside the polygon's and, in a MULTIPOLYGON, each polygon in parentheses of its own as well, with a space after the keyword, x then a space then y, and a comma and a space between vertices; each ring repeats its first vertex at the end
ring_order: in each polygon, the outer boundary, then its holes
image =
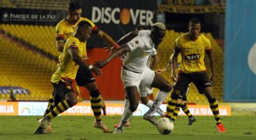
POLYGON ((78 86, 84 86, 87 83, 92 83, 95 81, 95 78, 92 75, 92 71, 86 67, 79 66, 76 74, 76 83, 78 86))

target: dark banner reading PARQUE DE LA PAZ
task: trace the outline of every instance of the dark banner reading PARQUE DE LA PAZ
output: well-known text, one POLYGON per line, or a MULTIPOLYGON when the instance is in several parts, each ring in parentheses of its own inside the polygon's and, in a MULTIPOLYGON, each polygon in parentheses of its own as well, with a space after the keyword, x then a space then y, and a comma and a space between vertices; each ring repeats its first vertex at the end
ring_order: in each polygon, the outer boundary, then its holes
POLYGON ((65 15, 63 10, 0 8, 0 24, 56 25, 65 15))

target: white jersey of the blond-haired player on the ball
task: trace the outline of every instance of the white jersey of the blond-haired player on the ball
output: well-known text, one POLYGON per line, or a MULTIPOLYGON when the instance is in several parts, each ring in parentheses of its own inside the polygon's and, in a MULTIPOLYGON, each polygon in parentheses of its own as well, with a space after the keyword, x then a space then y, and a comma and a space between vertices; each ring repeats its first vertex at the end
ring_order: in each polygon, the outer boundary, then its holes
POLYGON ((140 31, 127 45, 131 52, 125 56, 123 66, 136 73, 142 73, 148 58, 156 52, 155 44, 150 38, 150 30, 140 31))

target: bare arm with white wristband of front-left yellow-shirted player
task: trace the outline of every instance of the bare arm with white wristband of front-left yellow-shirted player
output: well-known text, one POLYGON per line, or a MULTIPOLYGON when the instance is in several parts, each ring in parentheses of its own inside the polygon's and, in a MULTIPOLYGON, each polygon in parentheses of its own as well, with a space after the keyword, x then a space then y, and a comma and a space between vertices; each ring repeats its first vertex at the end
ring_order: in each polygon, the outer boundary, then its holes
POLYGON ((74 62, 76 62, 76 64, 79 64, 80 66, 84 66, 84 67, 90 69, 97 76, 100 76, 102 74, 102 72, 100 71, 100 69, 98 67, 93 67, 93 66, 89 65, 87 62, 85 62, 83 60, 83 58, 78 55, 79 52, 78 52, 78 50, 76 50, 76 48, 69 48, 68 53, 71 56, 72 60, 74 62))

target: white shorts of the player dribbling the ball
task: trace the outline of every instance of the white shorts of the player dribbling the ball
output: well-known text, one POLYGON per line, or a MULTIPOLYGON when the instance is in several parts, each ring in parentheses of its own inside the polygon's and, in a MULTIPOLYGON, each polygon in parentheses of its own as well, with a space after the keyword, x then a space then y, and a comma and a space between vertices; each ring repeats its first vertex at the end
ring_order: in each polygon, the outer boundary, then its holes
POLYGON ((124 88, 136 86, 137 89, 140 89, 140 85, 151 88, 154 77, 155 72, 148 67, 145 67, 142 73, 134 73, 132 71, 124 69, 124 67, 122 67, 121 69, 121 79, 123 81, 124 88))

